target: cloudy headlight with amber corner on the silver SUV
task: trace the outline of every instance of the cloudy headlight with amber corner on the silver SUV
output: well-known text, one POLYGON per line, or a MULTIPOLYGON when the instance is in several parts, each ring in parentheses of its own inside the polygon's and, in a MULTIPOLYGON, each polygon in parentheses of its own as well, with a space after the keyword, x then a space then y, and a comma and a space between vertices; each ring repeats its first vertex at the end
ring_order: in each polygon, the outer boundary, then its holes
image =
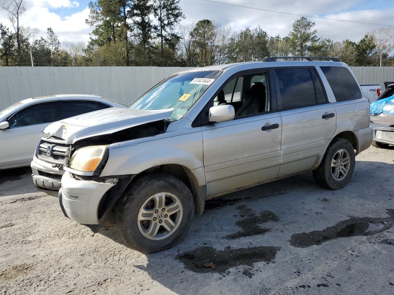
POLYGON ((81 147, 71 156, 69 167, 78 171, 94 172, 106 151, 107 146, 81 147))

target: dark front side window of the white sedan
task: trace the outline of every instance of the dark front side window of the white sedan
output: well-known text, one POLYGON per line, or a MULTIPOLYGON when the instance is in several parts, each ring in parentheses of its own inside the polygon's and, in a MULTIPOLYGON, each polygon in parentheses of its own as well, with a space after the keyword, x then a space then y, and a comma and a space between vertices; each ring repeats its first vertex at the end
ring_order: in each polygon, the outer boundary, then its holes
POLYGON ((8 122, 11 128, 55 121, 57 101, 37 103, 17 112, 8 122))

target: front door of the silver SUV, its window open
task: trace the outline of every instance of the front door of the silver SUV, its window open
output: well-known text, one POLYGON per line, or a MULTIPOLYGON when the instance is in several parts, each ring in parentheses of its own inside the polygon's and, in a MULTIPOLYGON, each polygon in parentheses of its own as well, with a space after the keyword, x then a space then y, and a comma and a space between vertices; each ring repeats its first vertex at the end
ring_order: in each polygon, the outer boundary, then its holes
POLYGON ((201 127, 207 196, 254 186, 278 176, 281 164, 282 121, 276 110, 275 93, 271 91, 274 89, 273 79, 268 77, 269 71, 262 70, 256 74, 238 77, 238 81, 230 81, 228 84, 232 87, 223 87, 225 98, 233 97, 230 101, 226 100, 227 104, 237 107, 234 93, 229 95, 226 89, 233 92, 238 90, 241 105, 251 99, 253 92, 253 96, 258 96, 255 99, 264 105, 263 109, 259 108, 259 111, 250 114, 240 114, 239 110, 235 109, 234 120, 201 127), (242 89, 237 89, 240 79, 242 89), (253 91, 255 83, 264 84, 264 87, 260 84, 260 89, 263 90, 257 93, 253 91))

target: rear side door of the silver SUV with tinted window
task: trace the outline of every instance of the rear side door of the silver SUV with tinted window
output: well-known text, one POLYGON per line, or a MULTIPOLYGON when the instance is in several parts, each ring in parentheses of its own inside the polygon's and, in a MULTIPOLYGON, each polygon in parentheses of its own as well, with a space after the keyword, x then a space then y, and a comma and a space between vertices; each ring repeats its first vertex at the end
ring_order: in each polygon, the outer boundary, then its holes
POLYGON ((335 133, 336 111, 314 67, 276 68, 275 85, 282 118, 282 177, 314 166, 335 133))

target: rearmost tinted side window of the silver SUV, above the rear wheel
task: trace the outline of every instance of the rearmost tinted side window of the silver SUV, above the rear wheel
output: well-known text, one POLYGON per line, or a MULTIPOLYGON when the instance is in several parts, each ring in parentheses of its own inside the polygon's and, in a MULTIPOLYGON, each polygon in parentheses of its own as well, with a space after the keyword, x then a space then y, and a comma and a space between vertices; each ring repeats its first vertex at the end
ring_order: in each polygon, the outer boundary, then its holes
POLYGON ((359 85, 347 68, 340 66, 321 66, 336 101, 357 100, 362 97, 359 85))

